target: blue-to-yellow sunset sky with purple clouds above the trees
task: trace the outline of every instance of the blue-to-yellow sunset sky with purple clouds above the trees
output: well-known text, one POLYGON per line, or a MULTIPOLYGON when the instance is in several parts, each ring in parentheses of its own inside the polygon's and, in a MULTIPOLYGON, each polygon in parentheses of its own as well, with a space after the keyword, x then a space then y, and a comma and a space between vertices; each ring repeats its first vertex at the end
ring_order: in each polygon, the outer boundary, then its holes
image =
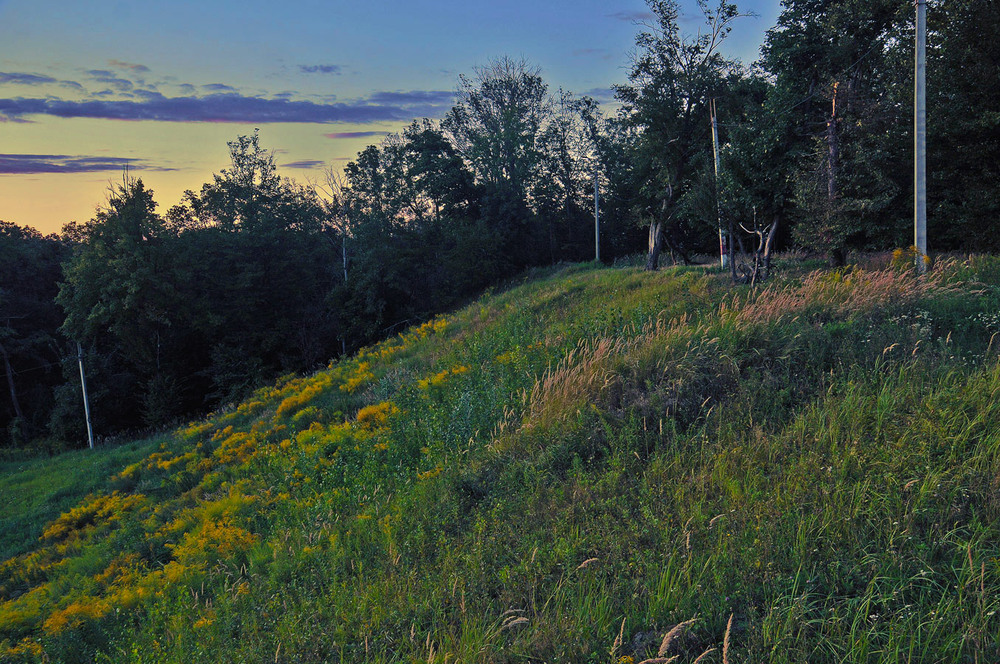
MULTIPOLYGON (((757 58, 779 0, 744 0, 723 48, 757 58)), ((695 0, 681 0, 695 32, 695 0)), ((0 0, 0 220, 85 222, 122 169, 159 210, 260 129, 282 175, 322 182, 500 56, 611 102, 642 0, 0 0)))

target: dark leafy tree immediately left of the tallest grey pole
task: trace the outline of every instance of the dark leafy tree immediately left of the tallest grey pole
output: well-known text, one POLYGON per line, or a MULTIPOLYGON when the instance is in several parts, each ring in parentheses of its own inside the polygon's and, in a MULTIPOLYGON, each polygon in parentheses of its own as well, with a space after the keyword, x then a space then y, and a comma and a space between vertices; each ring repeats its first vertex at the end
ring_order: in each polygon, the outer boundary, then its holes
MULTIPOLYGON (((894 0, 786 0, 767 34, 762 64, 775 98, 794 107, 789 149, 797 210, 794 236, 841 264, 849 244, 898 235, 906 190, 910 61, 908 12, 894 0)), ((912 90, 912 88, 910 88, 912 90)))

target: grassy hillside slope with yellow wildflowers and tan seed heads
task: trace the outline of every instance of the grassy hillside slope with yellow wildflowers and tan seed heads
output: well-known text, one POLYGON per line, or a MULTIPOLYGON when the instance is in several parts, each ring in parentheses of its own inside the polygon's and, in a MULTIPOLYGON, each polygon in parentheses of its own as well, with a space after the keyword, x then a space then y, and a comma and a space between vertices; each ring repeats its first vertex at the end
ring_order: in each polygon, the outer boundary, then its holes
POLYGON ((0 468, 0 661, 1000 661, 998 312, 994 258, 535 273, 0 468))

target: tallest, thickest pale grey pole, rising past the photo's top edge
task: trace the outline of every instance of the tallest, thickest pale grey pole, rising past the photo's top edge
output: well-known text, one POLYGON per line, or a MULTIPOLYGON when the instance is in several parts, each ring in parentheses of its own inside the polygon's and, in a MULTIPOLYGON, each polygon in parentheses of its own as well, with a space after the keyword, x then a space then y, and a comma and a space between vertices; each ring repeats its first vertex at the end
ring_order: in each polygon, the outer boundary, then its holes
POLYGON ((913 246, 917 271, 927 270, 927 0, 917 7, 916 68, 914 72, 913 246))

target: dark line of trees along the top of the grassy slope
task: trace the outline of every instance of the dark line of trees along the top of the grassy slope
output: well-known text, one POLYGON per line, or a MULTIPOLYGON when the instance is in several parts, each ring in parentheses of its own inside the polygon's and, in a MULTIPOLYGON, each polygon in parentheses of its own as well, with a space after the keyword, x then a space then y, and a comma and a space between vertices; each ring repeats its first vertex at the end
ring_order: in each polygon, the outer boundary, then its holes
MULTIPOLYGON (((911 244, 912 3, 785 0, 749 66, 721 48, 737 4, 702 0, 694 34, 673 0, 648 5, 613 110, 500 58, 459 78, 445 118, 318 186, 280 177, 255 132, 165 212, 125 173, 59 235, 0 222, 0 447, 85 436, 77 344, 110 435, 230 403, 526 267, 590 260, 595 177, 605 260, 656 269, 721 241, 739 281, 766 278, 774 246, 842 263, 911 244)), ((995 250, 1000 7, 929 15, 930 243, 995 250)))

